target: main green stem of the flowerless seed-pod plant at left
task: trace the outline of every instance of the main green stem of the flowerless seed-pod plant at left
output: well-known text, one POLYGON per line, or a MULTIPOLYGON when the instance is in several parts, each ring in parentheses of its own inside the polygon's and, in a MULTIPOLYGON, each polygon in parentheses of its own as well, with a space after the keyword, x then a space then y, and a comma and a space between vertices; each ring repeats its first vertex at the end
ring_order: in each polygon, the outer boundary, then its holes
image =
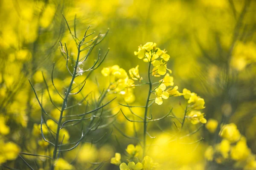
POLYGON ((53 151, 53 156, 52 156, 52 165, 51 165, 51 170, 54 170, 54 164, 55 164, 55 159, 56 159, 56 156, 57 156, 57 149, 58 149, 58 138, 59 138, 59 133, 60 133, 60 127, 61 127, 61 121, 62 121, 62 116, 63 116, 63 112, 66 108, 66 105, 67 105, 67 99, 68 99, 68 96, 70 94, 70 91, 72 89, 72 85, 73 85, 73 82, 74 82, 74 79, 76 78, 76 70, 77 70, 77 67, 78 67, 78 63, 79 63, 79 56, 80 56, 80 43, 78 45, 78 54, 77 54, 77 59, 76 59, 76 65, 75 65, 75 68, 74 68, 74 71, 73 71, 73 76, 72 76, 72 79, 70 81, 70 85, 67 89, 67 92, 66 92, 66 96, 64 98, 64 101, 62 103, 62 107, 61 107, 61 114, 60 114, 60 118, 58 120, 58 127, 57 127, 57 132, 56 132, 56 140, 55 140, 55 147, 54 147, 54 151, 53 151))

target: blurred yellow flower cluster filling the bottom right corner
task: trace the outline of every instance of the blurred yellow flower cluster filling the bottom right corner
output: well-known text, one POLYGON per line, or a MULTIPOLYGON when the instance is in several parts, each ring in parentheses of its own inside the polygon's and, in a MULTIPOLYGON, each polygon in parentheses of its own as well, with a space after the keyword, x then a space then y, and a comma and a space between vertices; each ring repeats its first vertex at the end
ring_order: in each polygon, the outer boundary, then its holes
POLYGON ((218 164, 233 161, 235 167, 244 170, 256 168, 255 155, 251 153, 245 137, 234 123, 222 126, 219 135, 223 138, 221 142, 207 147, 205 151, 208 161, 216 161, 218 164))

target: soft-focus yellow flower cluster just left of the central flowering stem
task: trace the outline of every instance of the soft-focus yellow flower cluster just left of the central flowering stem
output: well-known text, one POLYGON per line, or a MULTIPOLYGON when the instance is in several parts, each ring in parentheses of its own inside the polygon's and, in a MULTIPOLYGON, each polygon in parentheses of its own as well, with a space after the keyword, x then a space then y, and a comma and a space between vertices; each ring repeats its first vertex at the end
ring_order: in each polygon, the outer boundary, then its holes
MULTIPOLYGON (((141 79, 139 70, 131 68, 129 71, 132 79, 141 79)), ((120 68, 119 65, 113 65, 112 67, 103 68, 101 71, 105 77, 110 77, 111 86, 108 88, 109 92, 120 94, 124 97, 125 102, 132 103, 135 100, 132 88, 134 88, 134 80, 129 79, 127 72, 120 68)))

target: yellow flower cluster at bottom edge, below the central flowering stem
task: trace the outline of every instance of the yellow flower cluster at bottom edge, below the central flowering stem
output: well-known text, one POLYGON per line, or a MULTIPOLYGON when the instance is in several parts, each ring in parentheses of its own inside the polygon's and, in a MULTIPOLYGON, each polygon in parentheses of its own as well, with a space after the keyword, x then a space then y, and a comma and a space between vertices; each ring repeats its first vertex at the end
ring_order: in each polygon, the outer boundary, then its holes
POLYGON ((129 154, 129 159, 134 161, 127 159, 128 164, 125 162, 121 163, 121 154, 115 153, 115 157, 111 158, 111 164, 119 166, 120 170, 157 170, 159 167, 159 164, 154 162, 149 156, 145 156, 142 161, 139 161, 138 157, 141 157, 142 153, 140 145, 134 146, 133 144, 129 144, 126 152, 129 154))

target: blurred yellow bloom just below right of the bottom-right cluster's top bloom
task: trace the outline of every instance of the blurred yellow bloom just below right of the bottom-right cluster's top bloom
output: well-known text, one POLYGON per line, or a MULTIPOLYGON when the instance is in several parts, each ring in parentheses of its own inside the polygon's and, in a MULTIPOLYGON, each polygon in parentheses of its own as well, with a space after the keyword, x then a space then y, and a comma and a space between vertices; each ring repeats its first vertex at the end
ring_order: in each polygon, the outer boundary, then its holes
POLYGON ((236 143, 236 146, 231 149, 230 156, 236 161, 243 161, 248 158, 250 152, 251 151, 246 144, 246 139, 242 137, 241 140, 236 143))

